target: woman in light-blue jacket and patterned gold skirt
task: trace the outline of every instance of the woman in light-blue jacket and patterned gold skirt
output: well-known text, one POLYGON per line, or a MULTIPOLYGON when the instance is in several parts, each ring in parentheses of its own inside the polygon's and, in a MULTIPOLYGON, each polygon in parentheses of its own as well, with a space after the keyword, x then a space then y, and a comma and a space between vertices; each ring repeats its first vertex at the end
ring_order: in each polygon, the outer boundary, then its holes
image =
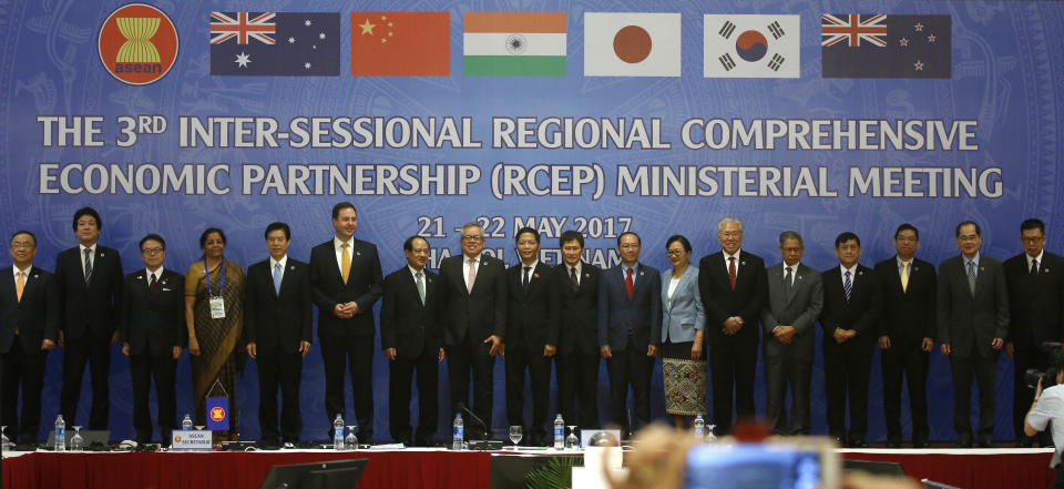
POLYGON ((705 314, 698 295, 698 268, 690 266, 690 242, 675 235, 665 242, 672 269, 662 272, 662 373, 665 410, 685 429, 706 409, 705 314))

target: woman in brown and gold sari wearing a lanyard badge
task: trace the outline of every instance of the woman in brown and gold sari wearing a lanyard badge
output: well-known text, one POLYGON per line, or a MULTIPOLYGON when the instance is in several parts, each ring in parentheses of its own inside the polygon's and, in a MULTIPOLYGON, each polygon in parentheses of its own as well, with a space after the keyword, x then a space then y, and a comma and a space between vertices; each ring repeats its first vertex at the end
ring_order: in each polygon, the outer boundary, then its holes
POLYGON ((215 441, 239 438, 236 371, 244 336, 244 269, 225 259, 225 233, 209 227, 200 236, 203 258, 185 275, 185 324, 192 358, 193 400, 196 425, 206 425, 206 399, 222 396, 213 389, 221 383, 228 396, 229 430, 215 434, 215 441))

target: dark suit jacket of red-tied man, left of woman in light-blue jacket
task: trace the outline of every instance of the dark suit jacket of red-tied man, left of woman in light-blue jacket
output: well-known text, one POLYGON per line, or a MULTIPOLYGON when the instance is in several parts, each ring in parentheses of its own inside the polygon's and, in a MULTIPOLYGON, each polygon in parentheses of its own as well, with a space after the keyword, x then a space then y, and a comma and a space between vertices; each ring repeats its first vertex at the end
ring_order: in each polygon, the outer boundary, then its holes
POLYGON ((632 298, 624 286, 623 264, 602 273, 598 281, 600 348, 608 346, 614 353, 628 348, 642 352, 647 345, 662 343, 662 273, 642 263, 636 266, 632 298))

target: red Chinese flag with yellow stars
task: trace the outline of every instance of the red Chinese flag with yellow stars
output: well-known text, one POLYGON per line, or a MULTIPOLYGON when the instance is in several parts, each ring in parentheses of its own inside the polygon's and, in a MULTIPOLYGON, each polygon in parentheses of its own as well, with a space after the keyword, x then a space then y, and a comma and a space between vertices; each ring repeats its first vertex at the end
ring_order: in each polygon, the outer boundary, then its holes
POLYGON ((450 12, 351 12, 351 75, 448 77, 450 12))

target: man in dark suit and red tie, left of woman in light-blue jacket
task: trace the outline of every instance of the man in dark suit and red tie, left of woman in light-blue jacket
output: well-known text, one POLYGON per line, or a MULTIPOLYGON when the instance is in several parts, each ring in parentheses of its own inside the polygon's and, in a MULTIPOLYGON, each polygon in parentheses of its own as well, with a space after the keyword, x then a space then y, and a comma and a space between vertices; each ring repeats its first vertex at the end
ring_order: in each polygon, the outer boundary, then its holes
POLYGON ((610 373, 613 422, 632 432, 651 420, 651 375, 662 342, 662 274, 640 263, 640 235, 617 237, 621 263, 598 281, 598 354, 610 373), (627 417, 628 386, 635 425, 627 417))

